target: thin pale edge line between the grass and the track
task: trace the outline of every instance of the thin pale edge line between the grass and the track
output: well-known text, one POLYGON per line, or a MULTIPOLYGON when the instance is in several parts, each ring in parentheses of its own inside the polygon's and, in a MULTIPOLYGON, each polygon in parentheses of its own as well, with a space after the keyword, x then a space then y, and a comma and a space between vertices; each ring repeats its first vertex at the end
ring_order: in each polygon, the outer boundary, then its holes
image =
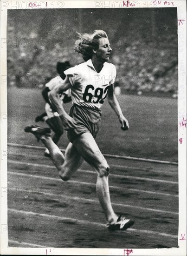
MULTIPOLYGON (((16 143, 8 143, 8 146, 21 147, 21 148, 32 148, 32 149, 45 149, 44 147, 23 145, 23 144, 16 144, 16 143)), ((60 150, 62 152, 65 152, 65 149, 63 149, 63 148, 60 148, 60 150)), ((110 157, 110 158, 128 159, 128 160, 135 160, 135 161, 142 161, 142 162, 153 162, 153 163, 178 165, 178 162, 169 162, 169 161, 154 160, 154 159, 147 159, 147 158, 138 158, 138 157, 131 157, 131 156, 123 156, 123 155, 110 155, 110 154, 103 154, 103 155, 106 156, 106 157, 110 157)))

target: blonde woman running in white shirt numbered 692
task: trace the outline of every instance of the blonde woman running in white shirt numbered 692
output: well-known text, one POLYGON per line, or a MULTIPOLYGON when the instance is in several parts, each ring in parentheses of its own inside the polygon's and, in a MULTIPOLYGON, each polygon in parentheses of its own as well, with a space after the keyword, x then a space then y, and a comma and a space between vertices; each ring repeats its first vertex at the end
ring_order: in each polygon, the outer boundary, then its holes
POLYGON ((53 107, 57 110, 63 122, 64 129, 70 141, 66 148, 65 156, 58 146, 52 141, 49 128, 27 127, 26 132, 31 132, 45 144, 58 174, 63 181, 80 167, 83 159, 97 172, 97 195, 104 210, 109 230, 125 230, 134 224, 133 220, 117 216, 110 202, 109 194, 109 165, 94 138, 101 122, 101 106, 108 96, 111 108, 122 124, 122 129, 129 128, 127 119, 123 116, 116 96, 114 95, 114 81, 116 68, 107 63, 112 51, 107 34, 103 30, 95 30, 94 34, 80 35, 76 41, 75 51, 83 55, 84 63, 64 71, 66 78, 63 84, 55 87, 49 94, 53 107), (60 103, 63 91, 71 88, 73 106, 68 115, 60 103), (58 156, 58 157, 56 157, 58 156))

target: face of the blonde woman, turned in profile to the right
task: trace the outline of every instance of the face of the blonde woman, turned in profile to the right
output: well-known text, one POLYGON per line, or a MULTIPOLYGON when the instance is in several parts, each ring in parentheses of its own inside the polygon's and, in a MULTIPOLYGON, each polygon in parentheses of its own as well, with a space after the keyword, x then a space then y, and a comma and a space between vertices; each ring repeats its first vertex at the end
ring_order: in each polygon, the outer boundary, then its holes
POLYGON ((102 61, 108 61, 110 58, 112 48, 110 47, 110 42, 108 38, 99 39, 99 47, 96 50, 96 56, 102 61))

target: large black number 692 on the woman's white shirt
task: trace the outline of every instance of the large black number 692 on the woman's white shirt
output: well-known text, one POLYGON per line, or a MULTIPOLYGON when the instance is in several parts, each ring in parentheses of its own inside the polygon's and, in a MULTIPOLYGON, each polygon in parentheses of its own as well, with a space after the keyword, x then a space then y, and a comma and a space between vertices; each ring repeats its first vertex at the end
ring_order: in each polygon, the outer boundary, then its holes
POLYGON ((101 103, 103 104, 104 99, 107 96, 109 86, 105 88, 95 88, 89 84, 86 86, 83 94, 83 100, 85 102, 101 103))

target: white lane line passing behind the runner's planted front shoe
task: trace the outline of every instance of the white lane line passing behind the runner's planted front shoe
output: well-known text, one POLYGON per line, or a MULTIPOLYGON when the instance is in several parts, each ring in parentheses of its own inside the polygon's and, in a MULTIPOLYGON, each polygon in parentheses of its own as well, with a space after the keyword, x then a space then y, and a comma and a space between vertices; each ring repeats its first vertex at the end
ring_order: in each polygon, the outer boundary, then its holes
MULTIPOLYGON (((26 215, 52 218, 52 219, 55 219, 55 220, 74 221, 74 222, 79 223, 79 224, 94 225, 94 226, 107 228, 106 224, 99 223, 99 222, 90 222, 90 221, 84 221, 84 220, 78 220, 78 219, 72 219, 72 218, 64 218, 64 217, 56 216, 56 215, 41 214, 41 213, 36 213, 36 212, 27 212, 27 211, 16 210, 16 209, 8 209, 8 211, 18 213, 18 214, 26 214, 26 215)), ((167 237, 171 237, 171 238, 178 238, 177 235, 170 235, 170 234, 160 233, 160 232, 155 232, 155 231, 150 231, 150 230, 128 229, 128 231, 135 231, 135 232, 140 232, 140 233, 147 233, 147 234, 154 234, 154 235, 159 235, 159 236, 167 236, 167 237)), ((48 247, 49 247, 49 245, 48 245, 48 247)))

